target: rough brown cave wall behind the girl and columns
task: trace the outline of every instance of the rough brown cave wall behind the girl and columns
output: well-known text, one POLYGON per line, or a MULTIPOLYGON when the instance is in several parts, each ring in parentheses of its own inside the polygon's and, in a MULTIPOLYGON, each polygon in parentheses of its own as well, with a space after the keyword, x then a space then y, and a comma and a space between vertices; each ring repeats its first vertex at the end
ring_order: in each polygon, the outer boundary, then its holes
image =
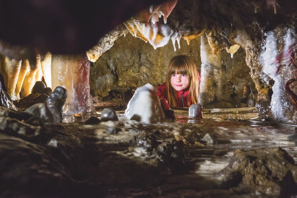
MULTIPOLYGON (((125 92, 135 91, 139 86, 151 83, 155 86, 165 82, 166 70, 170 59, 179 54, 186 54, 193 58, 200 72, 200 37, 190 41, 180 40, 181 48, 176 52, 170 42, 156 50, 139 38, 127 34, 114 42, 114 46, 103 53, 99 59, 91 64, 90 86, 95 96, 107 96, 111 90, 125 92)), ((255 91, 255 83, 249 75, 249 68, 245 63, 245 51, 241 48, 231 58, 230 54, 222 50, 222 62, 227 68, 228 80, 234 83, 237 93, 242 96, 243 87, 250 85, 255 91)))

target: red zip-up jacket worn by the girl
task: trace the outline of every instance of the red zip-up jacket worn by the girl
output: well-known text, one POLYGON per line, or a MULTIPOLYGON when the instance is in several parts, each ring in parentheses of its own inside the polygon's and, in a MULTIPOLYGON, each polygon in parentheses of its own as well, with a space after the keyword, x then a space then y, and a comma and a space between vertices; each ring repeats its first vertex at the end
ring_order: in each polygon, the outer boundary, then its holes
MULTIPOLYGON (((198 73, 198 80, 200 83, 200 75, 198 73)), ((183 104, 181 102, 181 95, 183 96, 184 99, 184 107, 189 107, 187 104, 187 95, 189 93, 189 88, 187 88, 186 90, 183 91, 176 91, 176 106, 177 107, 183 107, 183 104)), ((163 83, 162 85, 158 86, 158 96, 159 98, 165 98, 167 99, 167 92, 166 92, 166 86, 165 83, 163 83)), ((190 104, 192 104, 192 98, 190 98, 190 104)))

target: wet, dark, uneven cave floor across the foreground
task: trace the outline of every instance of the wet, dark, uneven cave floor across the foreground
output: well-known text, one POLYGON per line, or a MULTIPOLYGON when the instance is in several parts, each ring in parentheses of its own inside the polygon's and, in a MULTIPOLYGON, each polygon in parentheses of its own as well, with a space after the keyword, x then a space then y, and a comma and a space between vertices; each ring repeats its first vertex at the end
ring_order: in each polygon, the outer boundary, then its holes
POLYGON ((86 125, 72 117, 35 136, 0 131, 0 196, 270 197, 277 192, 222 187, 219 172, 238 149, 281 147, 297 160, 288 138, 295 128, 247 122, 255 107, 205 110, 203 119, 175 110, 176 121, 143 124, 127 120, 121 105, 101 104, 117 110, 119 121, 86 125), (206 134, 212 140, 203 141, 206 134))

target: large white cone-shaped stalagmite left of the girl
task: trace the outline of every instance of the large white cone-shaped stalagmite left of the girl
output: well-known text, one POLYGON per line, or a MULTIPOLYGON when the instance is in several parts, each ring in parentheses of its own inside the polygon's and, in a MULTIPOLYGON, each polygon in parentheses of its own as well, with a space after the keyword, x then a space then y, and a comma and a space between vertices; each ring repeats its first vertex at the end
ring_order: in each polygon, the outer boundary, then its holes
POLYGON ((164 112, 156 88, 149 83, 138 87, 128 103, 125 116, 148 124, 163 120, 164 112))

